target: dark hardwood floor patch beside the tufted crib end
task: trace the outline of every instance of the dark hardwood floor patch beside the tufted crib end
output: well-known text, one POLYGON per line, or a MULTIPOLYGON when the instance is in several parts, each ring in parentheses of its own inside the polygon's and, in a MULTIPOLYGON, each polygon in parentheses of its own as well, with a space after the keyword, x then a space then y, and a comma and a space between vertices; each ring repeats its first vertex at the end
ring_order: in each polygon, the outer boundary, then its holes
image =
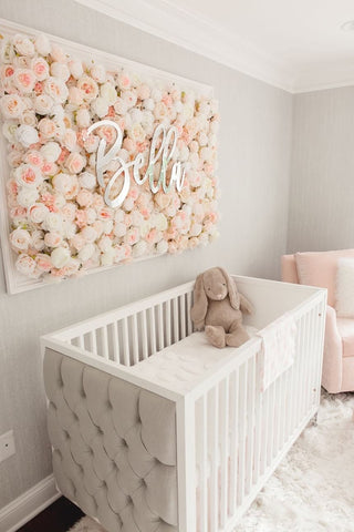
POLYGON ((82 516, 75 504, 61 497, 18 532, 66 532, 82 516))

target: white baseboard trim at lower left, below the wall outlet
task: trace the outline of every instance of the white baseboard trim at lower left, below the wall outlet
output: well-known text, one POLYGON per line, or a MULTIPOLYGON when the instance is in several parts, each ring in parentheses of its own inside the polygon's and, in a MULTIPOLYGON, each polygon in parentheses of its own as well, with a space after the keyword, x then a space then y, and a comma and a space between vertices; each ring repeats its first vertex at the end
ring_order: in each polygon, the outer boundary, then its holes
POLYGON ((50 474, 7 507, 0 509, 0 532, 15 532, 60 498, 54 477, 50 474))

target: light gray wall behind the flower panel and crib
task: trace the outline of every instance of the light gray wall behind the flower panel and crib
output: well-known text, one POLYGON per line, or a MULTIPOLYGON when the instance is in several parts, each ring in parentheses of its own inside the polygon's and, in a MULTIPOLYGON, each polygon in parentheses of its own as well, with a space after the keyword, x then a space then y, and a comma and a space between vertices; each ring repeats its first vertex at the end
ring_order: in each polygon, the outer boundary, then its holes
POLYGON ((51 473, 40 335, 192 279, 214 265, 277 278, 285 250, 292 96, 72 0, 1 0, 0 17, 215 85, 220 100, 220 238, 40 290, 6 294, 0 273, 0 434, 17 454, 0 464, 0 508, 51 473))

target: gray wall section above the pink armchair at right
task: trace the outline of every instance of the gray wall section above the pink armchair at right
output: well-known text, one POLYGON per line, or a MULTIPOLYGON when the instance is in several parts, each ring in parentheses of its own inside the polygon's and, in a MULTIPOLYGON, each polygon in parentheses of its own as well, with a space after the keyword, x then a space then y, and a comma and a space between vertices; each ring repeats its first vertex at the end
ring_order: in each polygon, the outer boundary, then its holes
POLYGON ((289 253, 354 247, 354 86, 294 96, 289 253))

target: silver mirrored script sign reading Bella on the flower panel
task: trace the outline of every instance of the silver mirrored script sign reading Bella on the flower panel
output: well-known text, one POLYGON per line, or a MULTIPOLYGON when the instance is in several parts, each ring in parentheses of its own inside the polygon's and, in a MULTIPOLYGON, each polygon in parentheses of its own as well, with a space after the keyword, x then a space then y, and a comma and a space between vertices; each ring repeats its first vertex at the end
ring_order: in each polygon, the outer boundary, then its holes
POLYGON ((96 176, 98 184, 105 188, 104 192, 104 202, 110 207, 116 208, 119 207, 124 200, 126 198, 129 188, 131 188, 131 171, 133 178, 137 185, 142 185, 145 181, 148 180, 149 187, 153 194, 156 194, 160 188, 165 194, 171 190, 174 184, 178 192, 181 191, 184 186, 184 181, 186 176, 186 168, 179 161, 174 162, 169 172, 169 180, 167 176, 168 164, 171 161, 178 140, 178 130, 174 125, 166 127, 163 124, 159 124, 153 135, 149 155, 148 155, 148 166, 146 172, 140 174, 140 170, 146 165, 145 157, 142 153, 138 153, 133 161, 126 162, 121 158, 117 153, 122 149, 123 144, 123 132, 116 122, 112 120, 101 120, 87 130, 87 135, 95 131, 97 127, 103 125, 110 125, 116 131, 116 139, 113 145, 106 151, 106 140, 101 139, 97 153, 96 153, 96 176), (156 146, 159 144, 159 147, 156 150, 156 146), (117 161, 119 163, 118 170, 112 175, 108 183, 105 183, 104 174, 107 165, 112 161, 117 161), (155 180, 155 165, 160 164, 159 176, 156 182, 155 180), (123 186, 119 194, 112 198, 111 191, 119 176, 123 176, 123 186))

